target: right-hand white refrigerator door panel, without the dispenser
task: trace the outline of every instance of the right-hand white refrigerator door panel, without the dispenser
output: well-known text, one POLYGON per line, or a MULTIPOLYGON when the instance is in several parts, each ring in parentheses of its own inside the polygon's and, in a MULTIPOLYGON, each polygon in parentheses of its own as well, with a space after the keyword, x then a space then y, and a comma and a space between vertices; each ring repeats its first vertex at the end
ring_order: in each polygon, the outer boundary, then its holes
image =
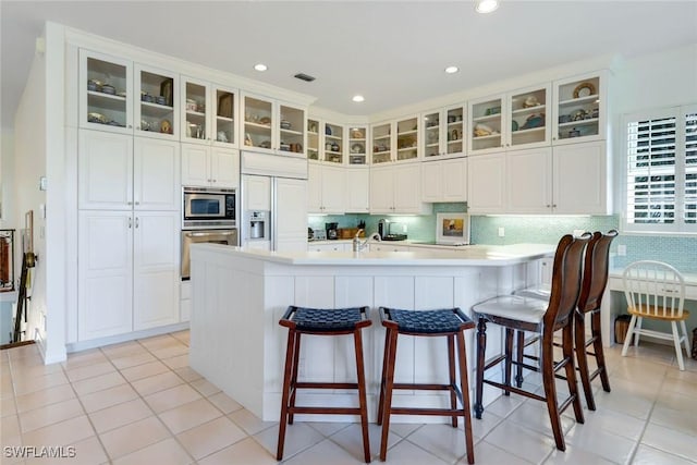
POLYGON ((307 181, 278 178, 271 235, 278 252, 307 250, 307 181))

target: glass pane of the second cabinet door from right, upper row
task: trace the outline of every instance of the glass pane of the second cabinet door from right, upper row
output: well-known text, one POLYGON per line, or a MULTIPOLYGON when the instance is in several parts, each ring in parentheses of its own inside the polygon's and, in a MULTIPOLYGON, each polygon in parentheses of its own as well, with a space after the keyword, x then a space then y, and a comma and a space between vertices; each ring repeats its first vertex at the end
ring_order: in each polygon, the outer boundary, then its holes
POLYGON ((547 139, 547 89, 511 96, 511 145, 547 139))

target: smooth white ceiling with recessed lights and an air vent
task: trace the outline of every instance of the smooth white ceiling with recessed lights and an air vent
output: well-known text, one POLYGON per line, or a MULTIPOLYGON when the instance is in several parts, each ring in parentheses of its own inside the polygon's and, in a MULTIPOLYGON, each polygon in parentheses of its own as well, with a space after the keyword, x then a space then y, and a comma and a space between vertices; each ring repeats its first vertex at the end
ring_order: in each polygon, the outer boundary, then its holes
POLYGON ((697 44, 696 1, 502 0, 481 15, 470 0, 1 0, 0 16, 2 127, 13 125, 45 21, 307 94, 348 115, 608 53, 697 44), (257 62, 268 71, 254 71, 257 62), (451 64, 461 71, 445 74, 451 64))

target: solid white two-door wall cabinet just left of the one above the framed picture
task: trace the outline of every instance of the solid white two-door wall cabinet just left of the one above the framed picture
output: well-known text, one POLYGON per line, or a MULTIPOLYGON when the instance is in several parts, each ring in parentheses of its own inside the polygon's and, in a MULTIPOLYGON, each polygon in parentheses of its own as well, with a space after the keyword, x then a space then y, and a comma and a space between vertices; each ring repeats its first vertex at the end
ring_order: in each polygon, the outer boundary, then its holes
POLYGON ((419 163, 374 167, 370 170, 371 213, 428 213, 421 200, 419 163))

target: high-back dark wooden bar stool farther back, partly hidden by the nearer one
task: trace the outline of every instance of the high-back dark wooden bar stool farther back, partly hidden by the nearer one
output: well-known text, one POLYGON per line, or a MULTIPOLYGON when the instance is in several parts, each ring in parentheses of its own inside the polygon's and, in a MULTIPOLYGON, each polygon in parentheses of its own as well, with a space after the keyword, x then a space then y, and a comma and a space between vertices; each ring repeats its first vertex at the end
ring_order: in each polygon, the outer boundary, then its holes
MULTIPOLYGON (((586 397, 586 405, 588 409, 596 409, 596 401, 592 395, 592 389, 590 382, 600 377, 602 389, 606 392, 610 392, 610 378, 608 377, 608 368, 606 366, 604 352, 602 350, 602 334, 600 325, 600 305, 602 303, 602 296, 608 285, 608 274, 610 266, 610 245, 612 241, 617 236, 617 231, 611 230, 607 234, 602 234, 599 231, 592 233, 590 242, 586 247, 586 256, 584 259, 584 278, 578 302, 576 304, 576 313, 574 319, 574 340, 576 348, 576 360, 578 363, 578 372, 580 375, 580 384, 584 388, 584 394, 586 397), (590 336, 586 339, 586 315, 590 316, 590 336), (592 352, 588 350, 592 345, 592 352), (594 372, 590 372, 588 366, 588 355, 596 358, 597 368, 594 372)), ((529 296, 535 298, 541 298, 549 301, 550 291, 545 292, 545 289, 526 289, 516 292, 515 295, 529 296)), ((539 336, 536 336, 525 343, 523 343, 524 332, 518 331, 518 364, 516 371, 517 387, 521 387, 523 381, 523 367, 528 369, 535 369, 539 371, 537 367, 530 367, 523 364, 523 356, 531 359, 537 357, 523 354, 523 346, 527 346, 539 341, 539 336)), ((558 345, 558 344, 555 344, 558 345)))

